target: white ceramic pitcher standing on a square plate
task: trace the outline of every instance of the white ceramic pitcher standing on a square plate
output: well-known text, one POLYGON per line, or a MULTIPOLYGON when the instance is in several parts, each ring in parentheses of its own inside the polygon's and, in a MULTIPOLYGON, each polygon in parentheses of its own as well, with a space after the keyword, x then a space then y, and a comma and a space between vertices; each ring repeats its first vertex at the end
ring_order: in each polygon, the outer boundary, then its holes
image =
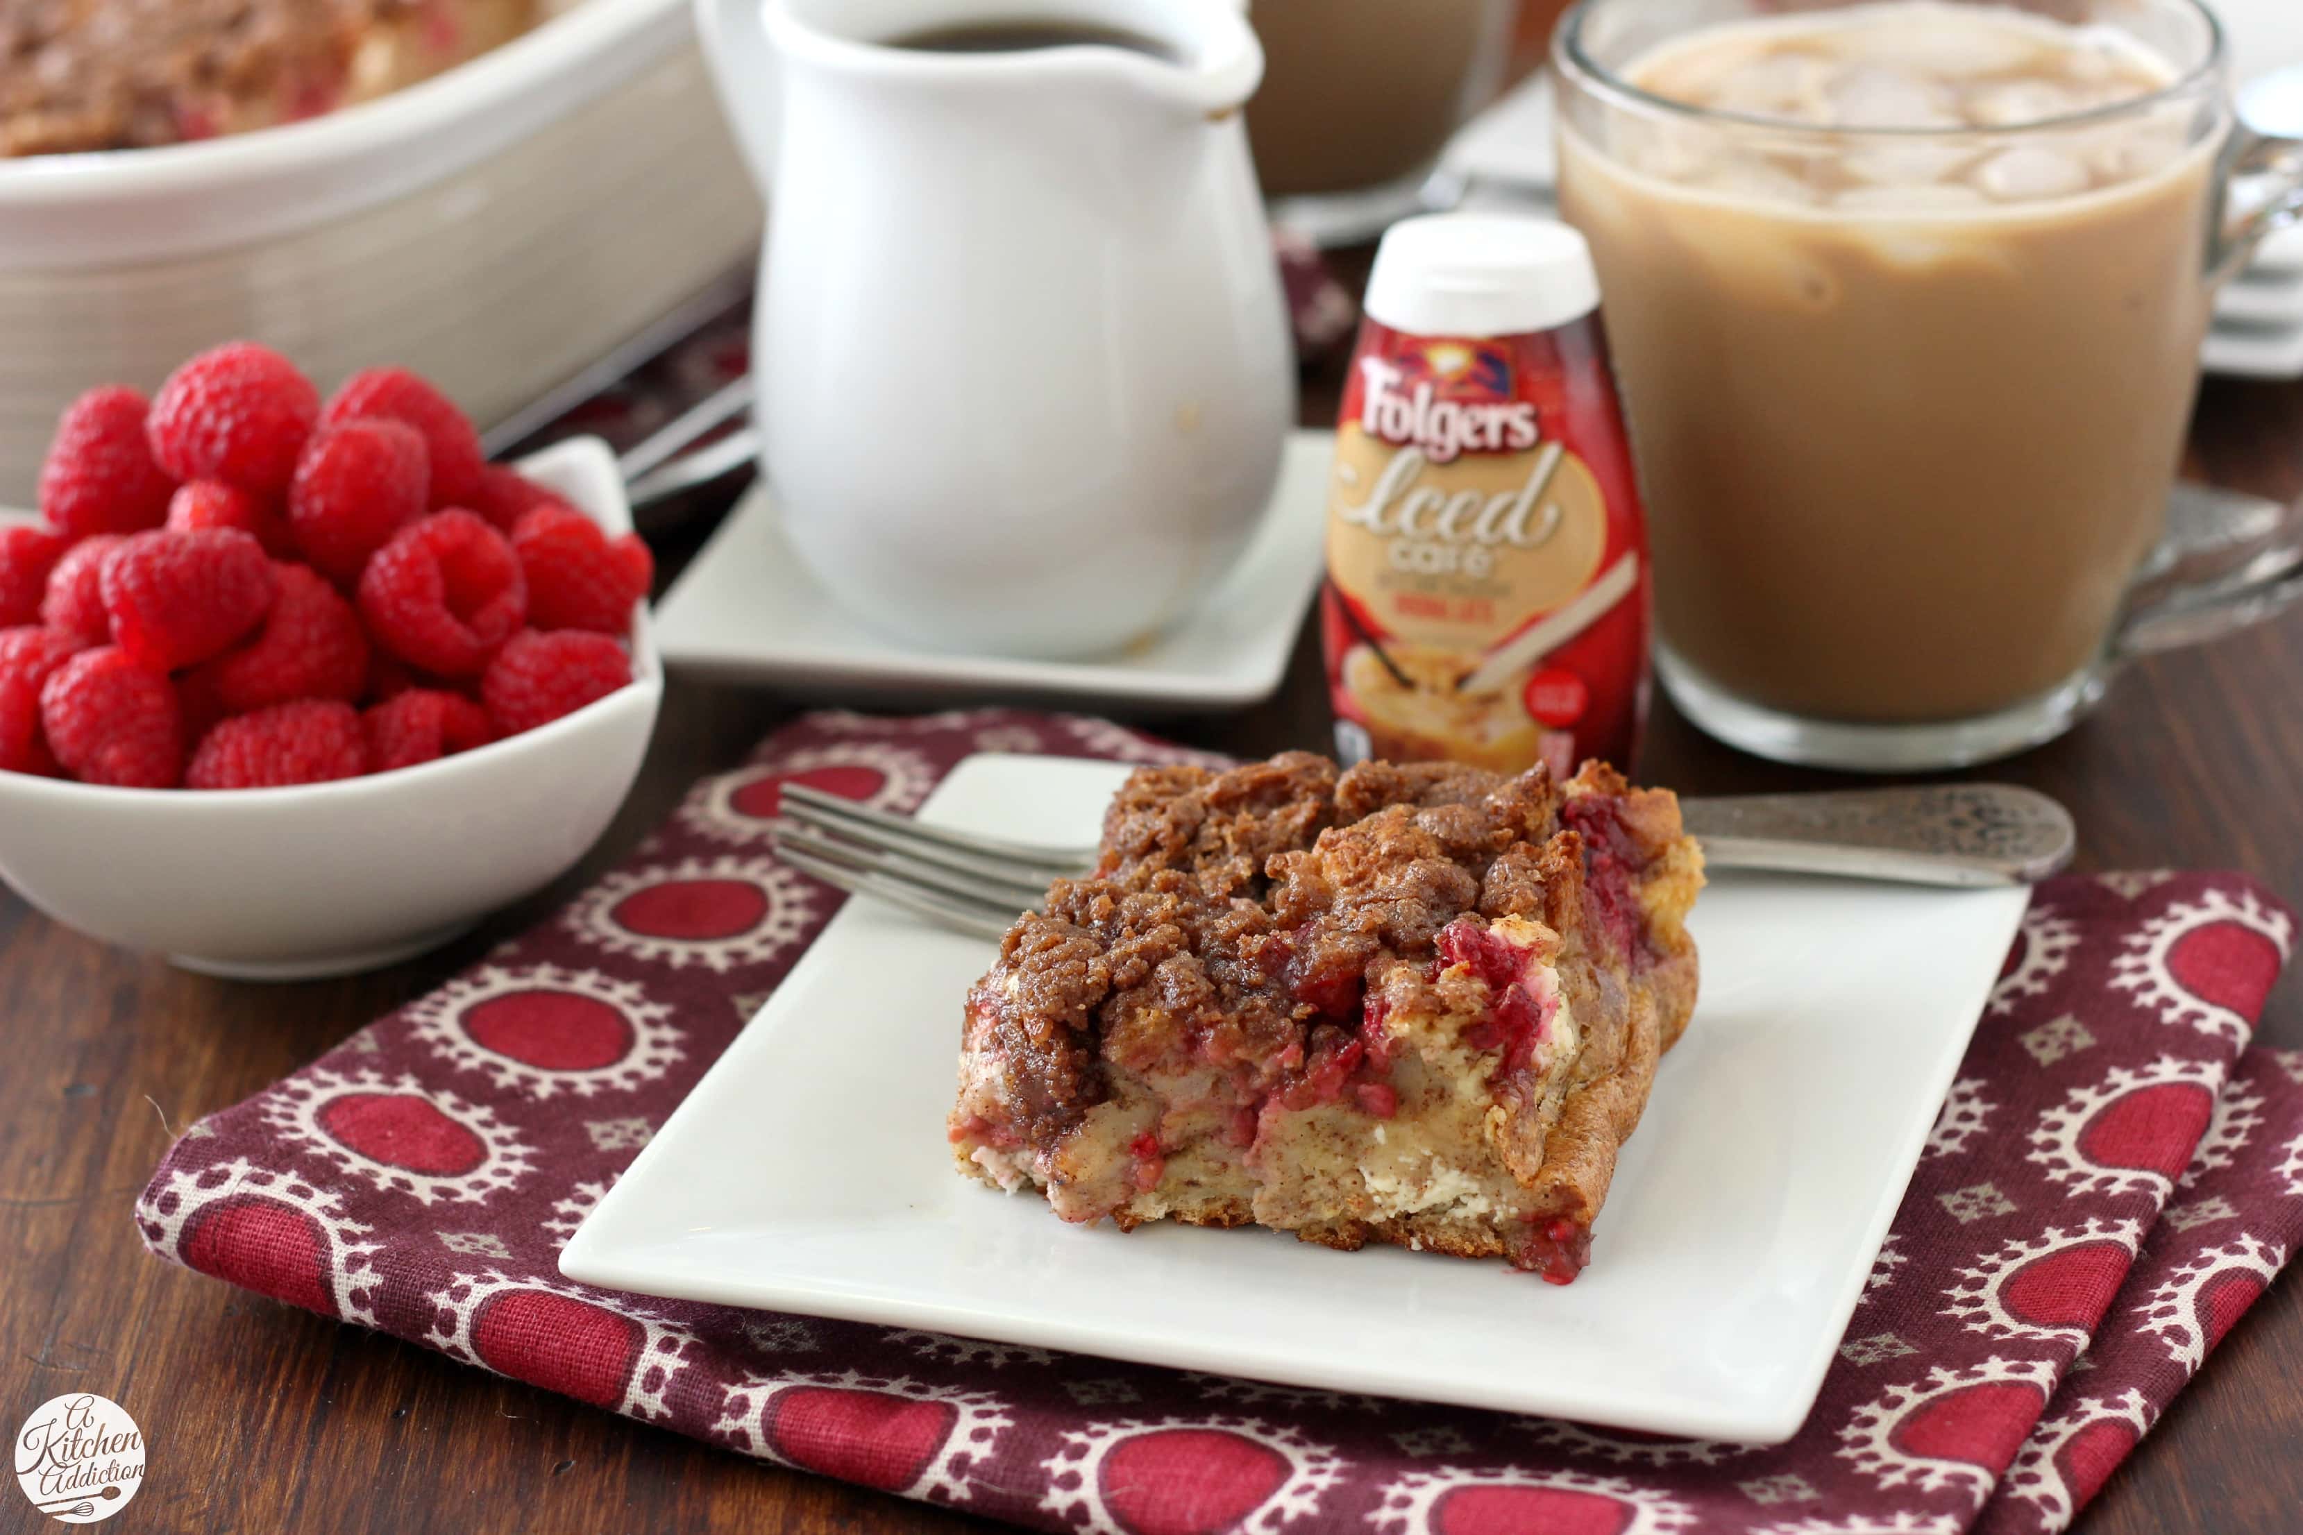
POLYGON ((792 548, 873 626, 1124 651, 1232 564, 1294 364, 1237 0, 698 0, 772 186, 753 322, 792 548), (1135 32, 942 53, 972 23, 1135 32))

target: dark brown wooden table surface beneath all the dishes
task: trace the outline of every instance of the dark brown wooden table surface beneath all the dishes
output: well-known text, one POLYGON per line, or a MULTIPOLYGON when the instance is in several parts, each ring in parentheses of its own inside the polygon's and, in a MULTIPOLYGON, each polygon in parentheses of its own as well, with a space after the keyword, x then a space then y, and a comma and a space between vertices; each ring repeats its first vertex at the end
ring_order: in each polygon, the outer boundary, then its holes
MULTIPOLYGON (((1329 419, 1313 380, 1306 421, 1329 419)), ((2209 384, 2190 472, 2303 490, 2303 387, 2209 384)), ((719 502, 725 504, 723 490, 719 502)), ((712 511, 719 511, 714 506, 712 511)), ((666 541, 663 564, 702 527, 666 541)), ((438 1353, 253 1298, 143 1252, 129 1208, 200 1114, 267 1086, 477 960, 629 851, 700 773, 790 704, 675 681, 640 787, 585 868, 484 932, 375 976, 235 985, 117 953, 0 898, 0 1420, 46 1397, 122 1402, 150 1480, 120 1530, 960 1530, 983 1521, 739 1459, 438 1353)), ((1322 750, 1317 644, 1260 709, 1168 720, 1230 753, 1322 750)), ((2303 898, 2303 612, 2135 667, 2063 741, 1990 769, 2063 799, 2082 868, 2215 865, 2303 898)), ((1658 697, 1642 773, 1688 792, 1826 776, 1730 753, 1658 697)), ((2303 1045, 2289 973, 2262 1038, 2303 1045)), ((2303 1284, 2275 1286, 2112 1480, 2096 1535, 2303 1528, 2303 1284)), ((32 1528, 0 1489, 0 1530, 32 1528)))

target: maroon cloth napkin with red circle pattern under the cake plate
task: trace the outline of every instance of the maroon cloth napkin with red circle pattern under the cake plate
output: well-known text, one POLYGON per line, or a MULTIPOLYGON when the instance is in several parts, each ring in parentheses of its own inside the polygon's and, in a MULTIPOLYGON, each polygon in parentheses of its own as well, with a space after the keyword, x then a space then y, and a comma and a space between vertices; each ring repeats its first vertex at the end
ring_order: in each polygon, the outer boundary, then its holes
POLYGON ((2303 1056, 2245 1049, 2294 921, 2241 877, 2151 872, 2038 893, 1787 1445, 564 1282, 576 1222, 838 904, 772 856, 778 785, 910 810, 974 750, 1198 759, 1071 716, 808 716, 548 923, 193 1125, 136 1206, 145 1240, 744 1454, 1043 1530, 2015 1535, 2070 1521, 2303 1236, 2303 1056))

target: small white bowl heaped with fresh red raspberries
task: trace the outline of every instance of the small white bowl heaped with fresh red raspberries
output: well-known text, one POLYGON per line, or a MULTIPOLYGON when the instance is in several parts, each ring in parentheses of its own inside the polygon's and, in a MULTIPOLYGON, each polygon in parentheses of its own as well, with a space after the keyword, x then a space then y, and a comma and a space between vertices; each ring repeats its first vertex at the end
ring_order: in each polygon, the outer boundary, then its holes
POLYGON ((44 520, 0 527, 0 877, 67 927, 246 980, 373 969, 548 884, 624 803, 663 667, 608 446, 562 442, 481 486, 477 440, 458 458, 470 423, 428 417, 421 380, 359 380, 366 398, 318 417, 318 396, 290 400, 276 497, 235 497, 279 465, 198 430, 265 412, 191 412, 177 446, 205 463, 154 449, 182 483, 164 527, 124 536, 97 529, 147 522, 159 479, 138 490, 152 465, 99 403, 60 433, 44 520), (78 479, 55 472, 67 440, 78 479), (463 483, 435 488, 442 465, 463 483), (32 621, 25 550, 53 566, 32 621), (104 640, 74 631, 99 621, 104 640))

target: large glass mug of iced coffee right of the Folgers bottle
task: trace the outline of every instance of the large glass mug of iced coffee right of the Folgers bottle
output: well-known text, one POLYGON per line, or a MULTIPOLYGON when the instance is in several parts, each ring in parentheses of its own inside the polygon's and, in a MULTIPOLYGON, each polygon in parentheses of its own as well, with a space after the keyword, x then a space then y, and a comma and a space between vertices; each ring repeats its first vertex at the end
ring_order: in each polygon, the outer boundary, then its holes
POLYGON ((2211 288, 2296 203, 2213 16, 1587 0, 1552 62, 1681 711, 1849 769, 2066 730, 2135 647, 2211 288))

